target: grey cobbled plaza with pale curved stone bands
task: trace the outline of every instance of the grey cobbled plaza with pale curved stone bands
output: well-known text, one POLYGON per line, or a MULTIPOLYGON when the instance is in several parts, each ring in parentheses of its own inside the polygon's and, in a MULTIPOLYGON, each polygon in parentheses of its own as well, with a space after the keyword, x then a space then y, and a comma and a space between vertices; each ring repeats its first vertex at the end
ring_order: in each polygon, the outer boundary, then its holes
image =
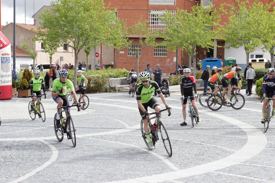
MULTIPOLYGON (((173 86, 180 91, 179 86, 173 86), (176 88, 178 87, 178 88, 176 88)), ((245 91, 241 91, 245 94, 245 91)), ((172 115, 161 120, 171 140, 169 157, 161 141, 156 149, 145 145, 135 97, 127 91, 87 94, 90 105, 71 109, 76 147, 53 130, 57 104, 51 93, 42 99, 43 123, 31 120, 31 98, 0 101, 0 182, 275 182, 275 120, 263 132, 262 103, 245 96, 240 110, 222 106, 212 111, 197 102, 201 122, 192 128, 187 111, 183 121, 180 93, 167 97, 172 115)), ((155 97, 161 107, 160 97, 155 97)), ((149 110, 153 112, 152 109, 149 110)))

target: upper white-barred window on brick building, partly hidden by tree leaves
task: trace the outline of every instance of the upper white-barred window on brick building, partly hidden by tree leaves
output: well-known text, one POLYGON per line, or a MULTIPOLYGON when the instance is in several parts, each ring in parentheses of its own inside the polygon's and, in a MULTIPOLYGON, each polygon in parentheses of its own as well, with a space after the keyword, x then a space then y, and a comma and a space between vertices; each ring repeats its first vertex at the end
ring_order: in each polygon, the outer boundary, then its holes
MULTIPOLYGON (((167 10, 168 13, 172 13, 173 15, 176 15, 176 10, 167 10)), ((166 24, 161 22, 159 17, 164 16, 165 10, 162 9, 150 9, 149 10, 149 27, 151 28, 151 32, 160 30, 161 32, 164 32, 164 28, 166 27, 166 24)))

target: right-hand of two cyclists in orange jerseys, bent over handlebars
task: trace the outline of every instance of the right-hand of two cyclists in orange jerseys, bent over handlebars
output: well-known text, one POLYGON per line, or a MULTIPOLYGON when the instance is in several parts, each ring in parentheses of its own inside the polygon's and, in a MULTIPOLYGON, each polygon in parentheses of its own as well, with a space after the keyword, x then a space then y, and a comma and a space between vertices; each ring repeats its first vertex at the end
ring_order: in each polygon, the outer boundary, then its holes
MULTIPOLYGON (((242 71, 242 68, 237 67, 236 71, 230 71, 230 72, 226 73, 225 75, 223 75, 223 77, 222 77, 222 91, 226 91, 226 88, 228 89, 226 102, 231 103, 230 100, 229 100, 229 96, 230 96, 232 88, 231 88, 229 79, 237 78, 238 74, 240 74, 241 71, 242 71)), ((236 81, 237 80, 232 80, 232 86, 236 85, 237 88, 240 89, 240 87, 238 87, 238 83, 236 81)))

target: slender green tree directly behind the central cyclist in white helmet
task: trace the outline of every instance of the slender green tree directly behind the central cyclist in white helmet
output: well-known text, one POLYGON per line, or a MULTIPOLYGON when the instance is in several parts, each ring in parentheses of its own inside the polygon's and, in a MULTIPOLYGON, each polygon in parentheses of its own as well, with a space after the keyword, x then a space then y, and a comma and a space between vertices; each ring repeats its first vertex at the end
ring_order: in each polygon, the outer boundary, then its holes
POLYGON ((138 62, 142 51, 148 46, 154 46, 156 44, 156 37, 157 37, 156 32, 150 33, 151 28, 148 27, 148 21, 147 20, 141 21, 141 20, 142 20, 142 16, 139 18, 138 22, 135 22, 135 24, 129 28, 129 31, 128 31, 128 34, 137 35, 138 42, 134 42, 133 40, 128 40, 125 43, 127 46, 128 52, 130 52, 131 55, 136 60, 138 74, 139 74, 138 62))

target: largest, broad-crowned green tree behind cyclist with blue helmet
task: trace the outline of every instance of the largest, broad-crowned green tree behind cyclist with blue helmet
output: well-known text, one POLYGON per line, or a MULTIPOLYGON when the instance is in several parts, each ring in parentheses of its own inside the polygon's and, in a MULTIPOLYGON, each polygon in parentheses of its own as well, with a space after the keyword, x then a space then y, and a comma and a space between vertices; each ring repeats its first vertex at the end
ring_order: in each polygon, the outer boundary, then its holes
MULTIPOLYGON (((39 16, 43 20, 39 30, 59 46, 68 43, 75 53, 75 66, 84 46, 121 43, 122 21, 115 16, 116 10, 109 10, 103 0, 55 0, 51 5, 53 8, 45 9, 39 16)), ((75 86, 76 72, 74 70, 75 86)))

